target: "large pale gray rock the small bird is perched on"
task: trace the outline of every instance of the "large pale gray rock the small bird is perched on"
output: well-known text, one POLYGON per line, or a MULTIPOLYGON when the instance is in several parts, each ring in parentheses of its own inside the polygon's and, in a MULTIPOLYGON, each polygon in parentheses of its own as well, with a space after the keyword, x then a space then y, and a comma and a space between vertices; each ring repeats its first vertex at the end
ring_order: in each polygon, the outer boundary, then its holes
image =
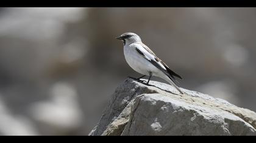
POLYGON ((126 79, 89 135, 256 135, 256 113, 196 91, 126 79))

